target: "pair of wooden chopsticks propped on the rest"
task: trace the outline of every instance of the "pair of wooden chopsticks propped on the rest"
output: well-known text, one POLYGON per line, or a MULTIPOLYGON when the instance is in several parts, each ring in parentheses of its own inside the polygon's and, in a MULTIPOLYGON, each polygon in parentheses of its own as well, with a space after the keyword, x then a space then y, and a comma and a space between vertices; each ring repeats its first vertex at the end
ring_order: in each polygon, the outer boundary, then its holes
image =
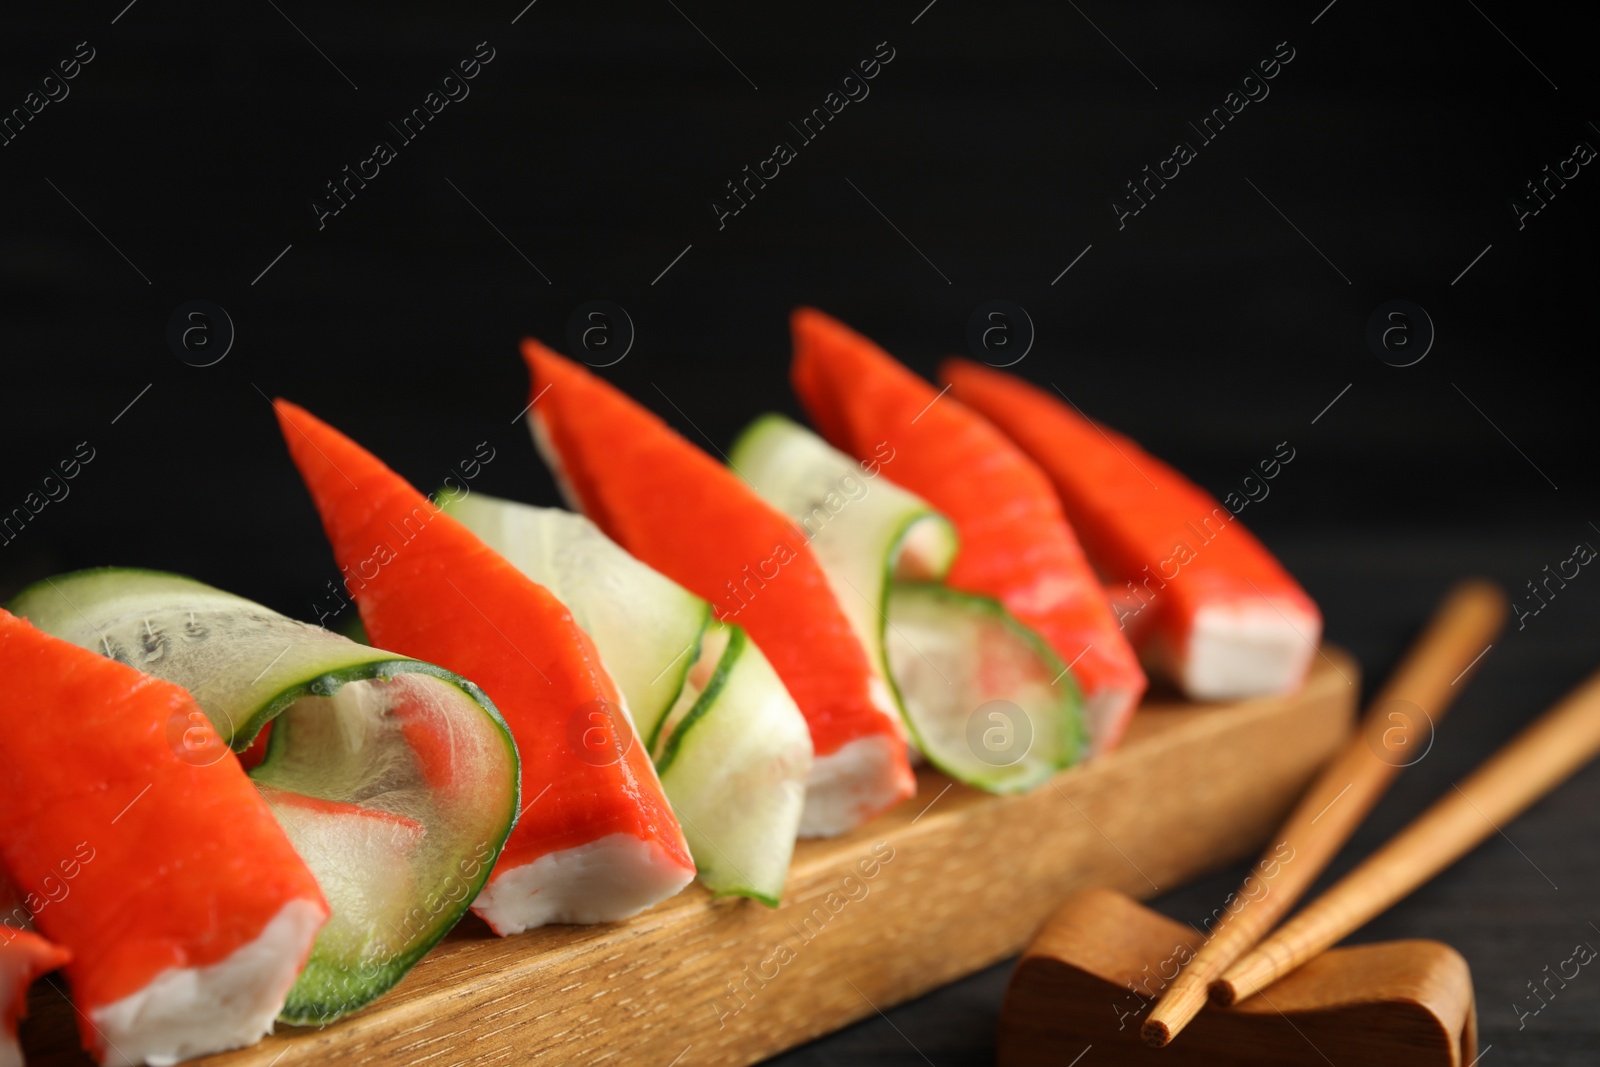
MULTIPOLYGON (((1150 1009, 1142 1037, 1162 1046, 1205 1006, 1254 995, 1354 933, 1600 753, 1600 673, 1523 729, 1467 781, 1258 944, 1328 865, 1402 766, 1422 755, 1432 725, 1506 621, 1506 595, 1483 581, 1458 585, 1374 697, 1349 747, 1322 773, 1272 838, 1291 862, 1274 870, 1267 893, 1227 913, 1150 1009), (1422 721, 1418 721, 1421 717, 1422 721), (1254 949, 1251 950, 1251 945, 1254 949)), ((1272 853, 1278 857, 1278 851, 1272 853)))

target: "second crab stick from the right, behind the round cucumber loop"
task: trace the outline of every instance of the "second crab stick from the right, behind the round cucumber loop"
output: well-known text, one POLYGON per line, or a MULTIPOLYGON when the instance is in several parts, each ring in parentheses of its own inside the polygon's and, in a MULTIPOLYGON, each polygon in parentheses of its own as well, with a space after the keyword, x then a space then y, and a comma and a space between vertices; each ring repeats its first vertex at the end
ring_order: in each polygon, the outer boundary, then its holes
POLYGON ((1096 752, 1117 744, 1144 694, 1138 657, 1045 474, 987 419, 822 312, 790 318, 800 403, 856 459, 893 448, 890 480, 942 512, 960 536, 954 589, 1002 601, 1083 689, 1096 752))

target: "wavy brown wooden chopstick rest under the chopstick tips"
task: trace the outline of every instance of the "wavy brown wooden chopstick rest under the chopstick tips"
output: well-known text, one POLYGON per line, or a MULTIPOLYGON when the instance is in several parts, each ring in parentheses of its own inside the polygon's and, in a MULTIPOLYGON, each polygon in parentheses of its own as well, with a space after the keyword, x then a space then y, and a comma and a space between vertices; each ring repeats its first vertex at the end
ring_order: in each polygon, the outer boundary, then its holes
POLYGON ((1438 941, 1334 949, 1235 1008, 1210 1008, 1166 1048, 1139 1019, 1178 949, 1203 939, 1120 893, 1077 893, 1018 963, 1000 1008, 1000 1067, 1062 1067, 1088 1048, 1118 1067, 1466 1067, 1472 974, 1438 941))

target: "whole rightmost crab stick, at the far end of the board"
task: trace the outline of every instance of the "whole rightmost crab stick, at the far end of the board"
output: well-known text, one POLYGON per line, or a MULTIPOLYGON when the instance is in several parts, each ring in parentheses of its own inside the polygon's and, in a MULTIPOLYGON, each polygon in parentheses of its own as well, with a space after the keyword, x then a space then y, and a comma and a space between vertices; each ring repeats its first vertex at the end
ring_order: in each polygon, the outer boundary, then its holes
POLYGON ((1019 378, 950 360, 942 379, 1050 475, 1146 662, 1202 701, 1304 680, 1322 614, 1234 512, 1019 378))

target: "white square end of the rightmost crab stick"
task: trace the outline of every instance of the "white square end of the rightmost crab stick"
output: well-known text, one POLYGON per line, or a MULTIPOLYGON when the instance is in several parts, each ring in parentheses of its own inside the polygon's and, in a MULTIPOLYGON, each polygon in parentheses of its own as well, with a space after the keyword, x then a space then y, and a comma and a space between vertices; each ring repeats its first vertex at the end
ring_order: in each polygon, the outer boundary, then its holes
POLYGON ((1322 621, 1290 603, 1206 605, 1173 677, 1197 701, 1286 693, 1304 680, 1320 637, 1322 621))

